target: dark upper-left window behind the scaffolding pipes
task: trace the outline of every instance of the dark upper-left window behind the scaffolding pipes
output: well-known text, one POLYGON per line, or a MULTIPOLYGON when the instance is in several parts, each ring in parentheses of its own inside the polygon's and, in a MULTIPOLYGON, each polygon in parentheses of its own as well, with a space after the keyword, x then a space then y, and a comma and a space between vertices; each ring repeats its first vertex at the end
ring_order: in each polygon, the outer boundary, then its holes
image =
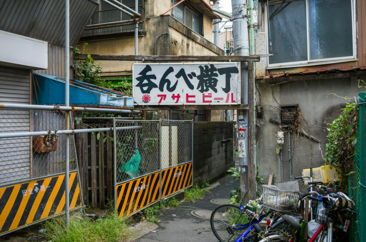
MULTIPOLYGON (((132 10, 135 10, 135 0, 118 0, 132 10)), ((143 1, 138 1, 138 12, 143 14, 143 1)), ((122 20, 130 20, 132 17, 127 15, 111 5, 105 3, 104 1, 99 2, 99 6, 94 12, 89 24, 100 24, 100 23, 110 23, 122 20)), ((88 25, 89 25, 88 24, 88 25)), ((143 24, 139 24, 139 28, 143 29, 143 24)), ((106 34, 133 34, 135 31, 135 25, 121 25, 117 27, 108 27, 94 30, 85 30, 82 37, 91 37, 96 35, 106 35, 106 34)))

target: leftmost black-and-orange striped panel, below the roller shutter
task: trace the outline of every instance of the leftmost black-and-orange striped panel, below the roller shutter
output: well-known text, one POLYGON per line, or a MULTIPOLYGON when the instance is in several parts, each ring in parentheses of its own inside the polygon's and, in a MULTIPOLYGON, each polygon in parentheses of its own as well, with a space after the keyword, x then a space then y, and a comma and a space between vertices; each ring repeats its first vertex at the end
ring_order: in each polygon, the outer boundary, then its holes
MULTIPOLYGON (((0 235, 65 211, 65 175, 0 188, 0 235)), ((77 172, 70 173, 70 210, 82 206, 77 172)))

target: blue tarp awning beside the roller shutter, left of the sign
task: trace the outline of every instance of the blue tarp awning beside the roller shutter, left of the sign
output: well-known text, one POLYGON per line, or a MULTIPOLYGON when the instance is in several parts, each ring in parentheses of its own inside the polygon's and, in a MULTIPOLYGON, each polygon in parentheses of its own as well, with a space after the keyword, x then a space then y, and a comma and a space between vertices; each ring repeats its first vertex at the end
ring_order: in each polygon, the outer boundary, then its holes
MULTIPOLYGON (((123 96, 107 88, 72 80, 70 84, 70 105, 134 107, 134 98, 123 96)), ((33 73, 33 104, 64 105, 65 78, 33 73)))

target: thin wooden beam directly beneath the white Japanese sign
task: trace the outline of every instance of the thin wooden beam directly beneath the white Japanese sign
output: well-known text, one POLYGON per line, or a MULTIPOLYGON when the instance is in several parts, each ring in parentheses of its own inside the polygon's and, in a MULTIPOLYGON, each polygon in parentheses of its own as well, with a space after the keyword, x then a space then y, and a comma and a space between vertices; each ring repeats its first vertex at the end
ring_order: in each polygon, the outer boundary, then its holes
POLYGON ((135 105, 134 110, 234 110, 248 109, 246 104, 236 105, 135 105))

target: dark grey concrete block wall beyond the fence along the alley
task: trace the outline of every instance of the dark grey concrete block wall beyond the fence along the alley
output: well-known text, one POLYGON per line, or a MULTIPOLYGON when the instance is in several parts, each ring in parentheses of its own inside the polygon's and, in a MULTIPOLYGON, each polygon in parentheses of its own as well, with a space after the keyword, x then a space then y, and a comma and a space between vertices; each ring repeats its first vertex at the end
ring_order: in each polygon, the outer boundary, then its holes
POLYGON ((213 182, 234 166, 234 122, 193 122, 193 177, 213 182))

